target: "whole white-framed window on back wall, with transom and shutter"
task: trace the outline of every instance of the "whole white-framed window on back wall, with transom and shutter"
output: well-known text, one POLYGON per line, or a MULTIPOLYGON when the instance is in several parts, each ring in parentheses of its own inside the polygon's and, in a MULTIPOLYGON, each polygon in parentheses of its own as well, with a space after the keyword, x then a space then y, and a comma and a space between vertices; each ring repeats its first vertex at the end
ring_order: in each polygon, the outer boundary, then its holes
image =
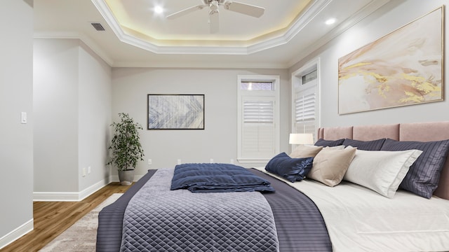
POLYGON ((238 76, 237 159, 264 163, 279 152, 279 76, 238 76))

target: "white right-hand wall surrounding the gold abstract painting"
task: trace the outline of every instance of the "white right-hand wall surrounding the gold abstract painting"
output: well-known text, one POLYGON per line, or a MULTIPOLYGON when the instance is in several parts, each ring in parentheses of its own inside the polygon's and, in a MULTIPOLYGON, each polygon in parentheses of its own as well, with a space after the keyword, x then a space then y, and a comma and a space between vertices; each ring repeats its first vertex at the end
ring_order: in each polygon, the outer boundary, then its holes
MULTIPOLYGON (((321 59, 321 126, 371 125, 389 123, 413 123, 449 120, 447 101, 448 88, 444 89, 445 101, 417 104, 377 111, 338 115, 338 59, 363 45, 371 43, 391 31, 408 24, 431 10, 447 4, 446 0, 407 0, 391 1, 368 18, 351 27, 343 34, 311 53, 301 62, 290 68, 290 72, 300 69, 311 59, 321 59)), ((446 6, 447 7, 447 6, 446 6)), ((448 18, 445 20, 445 34, 449 34, 448 18)), ((401 41, 398 41, 401 43, 401 41)), ((449 40, 445 40, 449 48, 449 40)), ((446 50, 447 51, 447 50, 446 50)), ((447 55, 447 53, 446 53, 447 55)), ((448 62, 448 57, 445 57, 448 62)), ((444 76, 449 76, 448 64, 445 64, 444 76)), ((448 80, 448 78, 446 78, 448 80)), ((446 81, 446 87, 449 83, 446 81)))

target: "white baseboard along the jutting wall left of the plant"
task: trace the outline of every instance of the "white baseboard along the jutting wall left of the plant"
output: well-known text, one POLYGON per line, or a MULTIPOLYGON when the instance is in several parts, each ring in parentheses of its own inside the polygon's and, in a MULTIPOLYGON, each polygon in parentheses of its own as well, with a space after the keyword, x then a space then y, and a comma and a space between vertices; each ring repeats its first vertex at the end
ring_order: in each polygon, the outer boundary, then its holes
POLYGON ((81 192, 33 192, 33 201, 44 202, 79 202, 89 195, 100 190, 109 183, 107 180, 99 181, 81 192))

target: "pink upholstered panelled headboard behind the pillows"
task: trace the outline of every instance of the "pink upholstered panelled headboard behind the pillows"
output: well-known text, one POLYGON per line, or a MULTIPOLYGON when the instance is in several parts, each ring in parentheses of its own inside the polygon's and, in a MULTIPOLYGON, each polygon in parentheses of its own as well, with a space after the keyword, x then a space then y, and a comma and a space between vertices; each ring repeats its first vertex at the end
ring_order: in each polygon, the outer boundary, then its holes
MULTIPOLYGON (((401 123, 349 127, 323 127, 318 139, 355 139, 370 141, 389 138, 398 141, 438 141, 449 139, 449 121, 434 123, 401 123)), ((434 195, 449 200, 449 158, 445 161, 438 188, 434 195)))

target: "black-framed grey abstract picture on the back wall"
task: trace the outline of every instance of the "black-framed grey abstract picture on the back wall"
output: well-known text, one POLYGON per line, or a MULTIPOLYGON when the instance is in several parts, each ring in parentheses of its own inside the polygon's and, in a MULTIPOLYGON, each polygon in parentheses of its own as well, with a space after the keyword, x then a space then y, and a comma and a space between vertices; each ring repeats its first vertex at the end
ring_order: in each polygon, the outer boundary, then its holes
POLYGON ((204 130, 204 94, 148 94, 148 130, 204 130))

